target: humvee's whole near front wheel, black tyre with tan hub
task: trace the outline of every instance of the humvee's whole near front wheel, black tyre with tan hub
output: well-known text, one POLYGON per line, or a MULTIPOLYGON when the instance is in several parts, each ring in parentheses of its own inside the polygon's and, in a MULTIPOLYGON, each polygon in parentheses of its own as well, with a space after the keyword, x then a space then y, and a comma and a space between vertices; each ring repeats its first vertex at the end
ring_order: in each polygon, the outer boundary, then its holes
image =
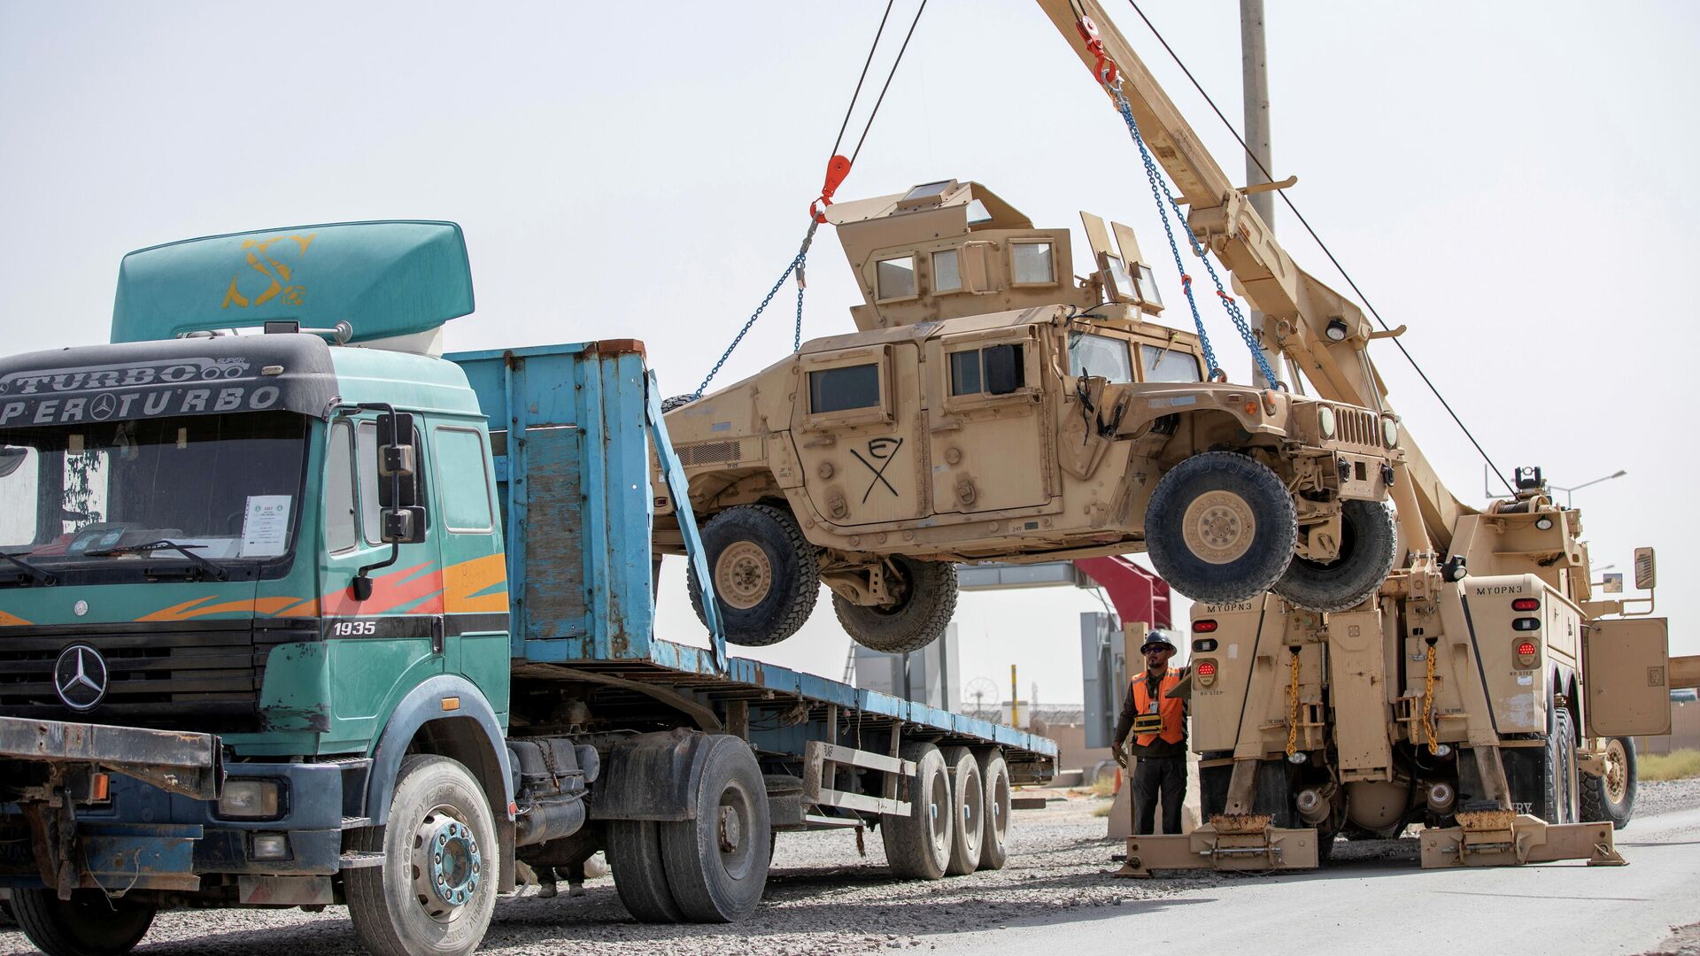
POLYGON ((1292 563, 1299 521, 1280 476, 1232 451, 1195 454, 1163 476, 1146 505, 1146 551, 1193 600, 1246 600, 1292 563))

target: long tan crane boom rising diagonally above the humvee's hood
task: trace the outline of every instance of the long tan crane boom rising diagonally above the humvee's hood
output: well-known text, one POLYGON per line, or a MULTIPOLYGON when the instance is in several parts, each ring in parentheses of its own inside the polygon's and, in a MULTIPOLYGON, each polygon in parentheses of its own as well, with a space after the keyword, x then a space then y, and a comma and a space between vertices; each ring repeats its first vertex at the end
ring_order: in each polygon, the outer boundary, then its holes
MULTIPOLYGON (((1039 7, 1093 77, 1098 58, 1086 48, 1078 22, 1085 15, 1096 24, 1105 54, 1120 68, 1122 92, 1141 136, 1187 202, 1187 223, 1198 242, 1217 253, 1232 272, 1234 289, 1263 313, 1263 340, 1290 357, 1321 398, 1392 413, 1387 386, 1368 357, 1372 328, 1363 310, 1294 264, 1103 7, 1096 0, 1039 0, 1039 7), (1345 337, 1329 335, 1333 323, 1345 325, 1345 337)), ((1114 102, 1114 94, 1105 94, 1114 102)), ((1476 509, 1440 481, 1409 432, 1401 430, 1404 480, 1394 487, 1394 500, 1406 551, 1445 553, 1459 517, 1476 509)))

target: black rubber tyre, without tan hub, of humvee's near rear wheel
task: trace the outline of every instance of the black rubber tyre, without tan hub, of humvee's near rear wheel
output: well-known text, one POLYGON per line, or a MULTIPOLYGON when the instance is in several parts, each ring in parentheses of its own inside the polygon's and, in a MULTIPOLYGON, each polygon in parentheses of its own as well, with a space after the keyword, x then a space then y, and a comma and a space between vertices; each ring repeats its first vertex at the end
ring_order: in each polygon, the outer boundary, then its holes
MULTIPOLYGON (((726 595, 719 597, 726 640, 743 646, 775 645, 796 634, 814 612, 814 599, 821 592, 819 551, 802 536, 790 512, 774 505, 736 505, 702 526, 702 551, 711 577, 717 573, 717 561, 726 549, 740 543, 762 549, 768 585, 765 595, 750 607, 733 607, 726 602, 726 595)), ((687 563, 687 585, 690 606, 697 611, 697 619, 707 626, 695 563, 687 563)))

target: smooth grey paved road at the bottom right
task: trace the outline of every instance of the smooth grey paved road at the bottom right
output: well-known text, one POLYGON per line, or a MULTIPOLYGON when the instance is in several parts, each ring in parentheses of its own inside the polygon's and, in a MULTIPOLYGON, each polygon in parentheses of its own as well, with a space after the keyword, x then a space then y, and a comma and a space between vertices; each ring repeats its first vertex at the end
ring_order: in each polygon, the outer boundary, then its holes
POLYGON ((1593 956, 1649 953, 1671 927, 1700 922, 1700 810, 1635 820, 1617 834, 1617 847, 1629 866, 1425 871, 1348 862, 928 942, 938 956, 1593 956))

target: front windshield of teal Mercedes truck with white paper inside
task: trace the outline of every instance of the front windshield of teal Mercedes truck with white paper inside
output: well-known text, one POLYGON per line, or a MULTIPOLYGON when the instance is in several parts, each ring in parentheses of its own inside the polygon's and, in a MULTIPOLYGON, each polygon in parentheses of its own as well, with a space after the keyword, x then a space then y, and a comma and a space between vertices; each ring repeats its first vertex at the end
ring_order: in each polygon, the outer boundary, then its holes
MULTIPOLYGON (((218 565, 286 556, 306 434, 291 412, 0 429, 0 551, 37 568, 156 541, 218 565)), ((189 563, 173 548, 136 555, 189 563)))

